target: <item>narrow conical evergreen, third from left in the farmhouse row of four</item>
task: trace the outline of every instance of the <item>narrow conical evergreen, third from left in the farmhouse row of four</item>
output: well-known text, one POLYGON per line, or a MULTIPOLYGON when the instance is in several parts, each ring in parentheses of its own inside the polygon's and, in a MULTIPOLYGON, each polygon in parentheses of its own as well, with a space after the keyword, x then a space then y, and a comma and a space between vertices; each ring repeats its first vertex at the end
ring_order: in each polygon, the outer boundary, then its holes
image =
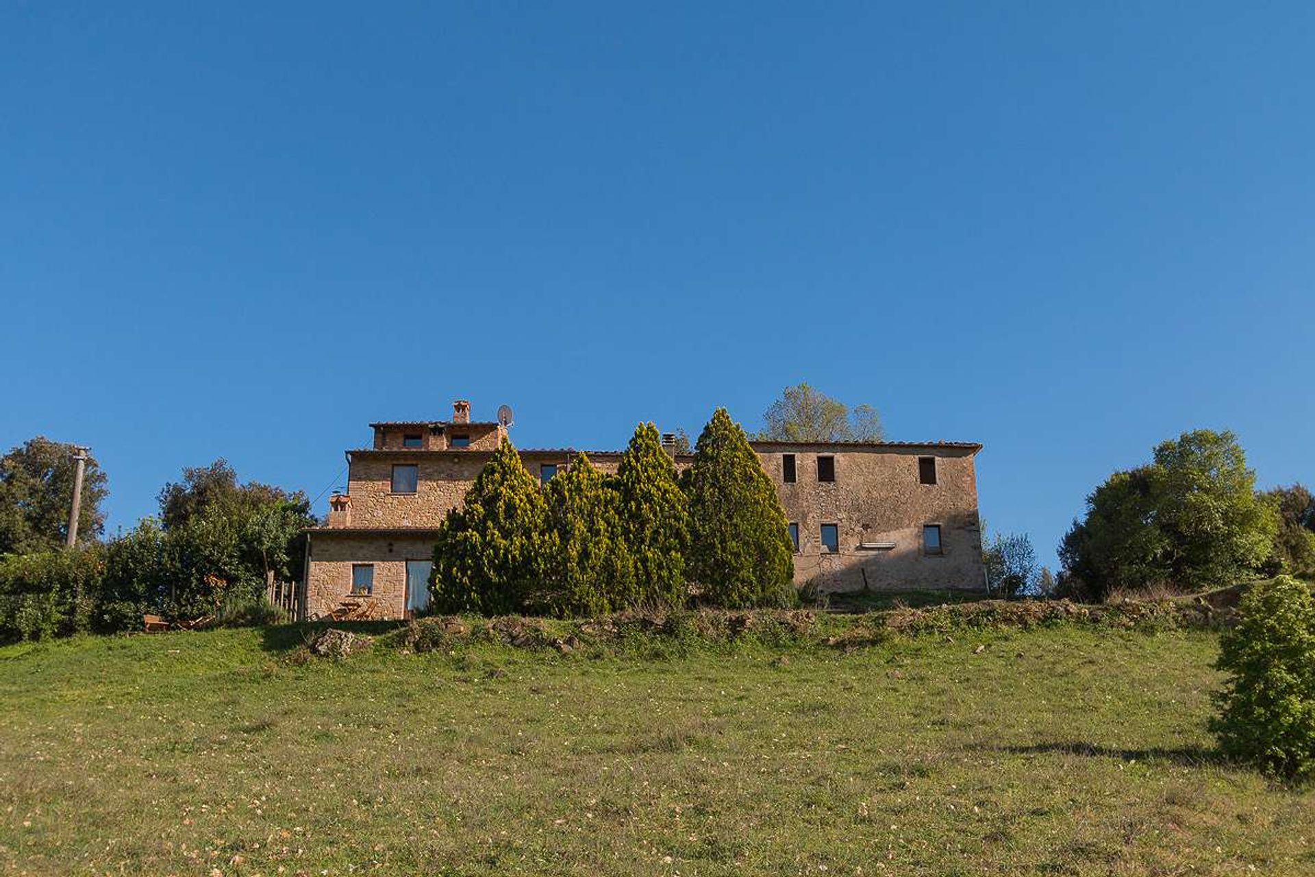
POLYGON ((682 606, 689 505, 656 426, 635 427, 610 481, 619 504, 621 536, 634 563, 635 602, 682 606))

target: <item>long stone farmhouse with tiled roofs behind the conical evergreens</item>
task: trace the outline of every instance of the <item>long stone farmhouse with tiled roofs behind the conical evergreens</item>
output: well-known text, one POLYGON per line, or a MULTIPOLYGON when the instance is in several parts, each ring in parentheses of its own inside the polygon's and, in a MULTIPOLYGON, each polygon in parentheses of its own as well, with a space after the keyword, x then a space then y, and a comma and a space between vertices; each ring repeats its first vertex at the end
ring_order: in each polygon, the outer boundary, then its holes
MULTIPOLYGON (((480 468, 508 437, 497 421, 371 423, 371 447, 347 451, 347 492, 330 498, 323 526, 308 531, 301 614, 325 615, 370 597, 388 617, 429 601, 434 533, 462 505, 480 468)), ((675 437, 663 443, 676 467, 675 437)), ((982 589, 977 477, 970 442, 752 442, 776 485, 796 546, 794 581, 825 592, 982 589)), ((602 472, 621 451, 585 451, 602 472)), ((522 448, 547 483, 579 454, 522 448)))

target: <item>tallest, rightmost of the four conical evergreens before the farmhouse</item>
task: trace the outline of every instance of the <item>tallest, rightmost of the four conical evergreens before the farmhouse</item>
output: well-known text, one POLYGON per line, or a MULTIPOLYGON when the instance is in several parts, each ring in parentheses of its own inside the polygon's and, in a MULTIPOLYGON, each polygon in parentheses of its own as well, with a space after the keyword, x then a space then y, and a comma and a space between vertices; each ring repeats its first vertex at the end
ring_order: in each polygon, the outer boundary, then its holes
POLYGON ((718 606, 794 601, 793 544, 776 488, 744 430, 718 408, 682 481, 689 496, 689 575, 718 606))

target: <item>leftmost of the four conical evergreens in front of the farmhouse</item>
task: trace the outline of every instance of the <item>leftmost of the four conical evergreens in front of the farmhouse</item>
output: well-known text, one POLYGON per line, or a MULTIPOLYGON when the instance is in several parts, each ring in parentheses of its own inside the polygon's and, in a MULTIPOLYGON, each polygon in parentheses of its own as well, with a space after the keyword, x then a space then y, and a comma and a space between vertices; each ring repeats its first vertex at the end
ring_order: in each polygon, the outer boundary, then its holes
POLYGON ((502 440, 439 526, 430 593, 438 611, 523 611, 542 593, 547 504, 502 440))

